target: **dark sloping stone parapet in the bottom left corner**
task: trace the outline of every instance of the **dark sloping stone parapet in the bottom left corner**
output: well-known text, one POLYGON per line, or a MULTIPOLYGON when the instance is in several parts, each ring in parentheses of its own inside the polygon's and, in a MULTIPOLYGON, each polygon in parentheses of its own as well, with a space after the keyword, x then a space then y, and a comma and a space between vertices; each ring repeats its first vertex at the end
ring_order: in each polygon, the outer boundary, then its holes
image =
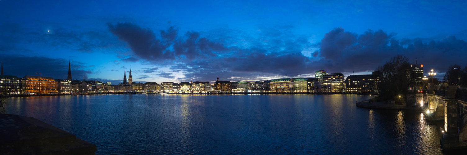
POLYGON ((0 114, 0 155, 94 155, 96 145, 32 117, 0 114))

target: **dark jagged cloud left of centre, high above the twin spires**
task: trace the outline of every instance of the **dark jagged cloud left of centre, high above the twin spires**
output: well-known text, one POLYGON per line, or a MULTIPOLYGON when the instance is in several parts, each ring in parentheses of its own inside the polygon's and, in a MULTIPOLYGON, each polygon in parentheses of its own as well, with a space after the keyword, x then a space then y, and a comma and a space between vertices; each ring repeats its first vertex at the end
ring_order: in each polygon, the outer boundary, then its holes
POLYGON ((127 42, 136 56, 142 59, 159 61, 175 59, 195 59, 215 56, 214 51, 226 50, 218 43, 199 37, 198 32, 189 31, 177 38, 177 29, 170 27, 160 31, 160 38, 150 30, 129 22, 107 23, 109 31, 127 42))

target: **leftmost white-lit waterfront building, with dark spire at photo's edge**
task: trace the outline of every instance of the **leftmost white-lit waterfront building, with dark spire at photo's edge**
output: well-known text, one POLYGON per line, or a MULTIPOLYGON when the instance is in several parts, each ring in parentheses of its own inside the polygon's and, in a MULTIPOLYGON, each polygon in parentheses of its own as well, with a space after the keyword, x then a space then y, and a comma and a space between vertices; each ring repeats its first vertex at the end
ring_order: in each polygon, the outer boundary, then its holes
POLYGON ((13 95, 21 93, 21 79, 14 75, 0 75, 0 95, 13 95))

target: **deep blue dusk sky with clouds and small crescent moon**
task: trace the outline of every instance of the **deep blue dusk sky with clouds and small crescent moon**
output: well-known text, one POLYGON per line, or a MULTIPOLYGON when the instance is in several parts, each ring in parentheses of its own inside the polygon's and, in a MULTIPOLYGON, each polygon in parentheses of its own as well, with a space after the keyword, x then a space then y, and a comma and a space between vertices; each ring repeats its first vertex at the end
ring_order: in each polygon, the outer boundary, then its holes
POLYGON ((64 79, 70 59, 73 79, 116 85, 130 66, 136 82, 259 81, 371 74, 403 54, 442 77, 467 65, 466 25, 465 0, 0 0, 0 60, 64 79))

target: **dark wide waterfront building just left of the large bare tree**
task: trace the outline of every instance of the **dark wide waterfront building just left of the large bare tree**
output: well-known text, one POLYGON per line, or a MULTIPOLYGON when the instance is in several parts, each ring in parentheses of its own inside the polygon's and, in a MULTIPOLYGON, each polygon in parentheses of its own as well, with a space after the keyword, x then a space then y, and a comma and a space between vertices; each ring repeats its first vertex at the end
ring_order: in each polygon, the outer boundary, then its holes
POLYGON ((346 92, 377 92, 380 76, 380 71, 375 71, 373 74, 348 76, 346 92))

